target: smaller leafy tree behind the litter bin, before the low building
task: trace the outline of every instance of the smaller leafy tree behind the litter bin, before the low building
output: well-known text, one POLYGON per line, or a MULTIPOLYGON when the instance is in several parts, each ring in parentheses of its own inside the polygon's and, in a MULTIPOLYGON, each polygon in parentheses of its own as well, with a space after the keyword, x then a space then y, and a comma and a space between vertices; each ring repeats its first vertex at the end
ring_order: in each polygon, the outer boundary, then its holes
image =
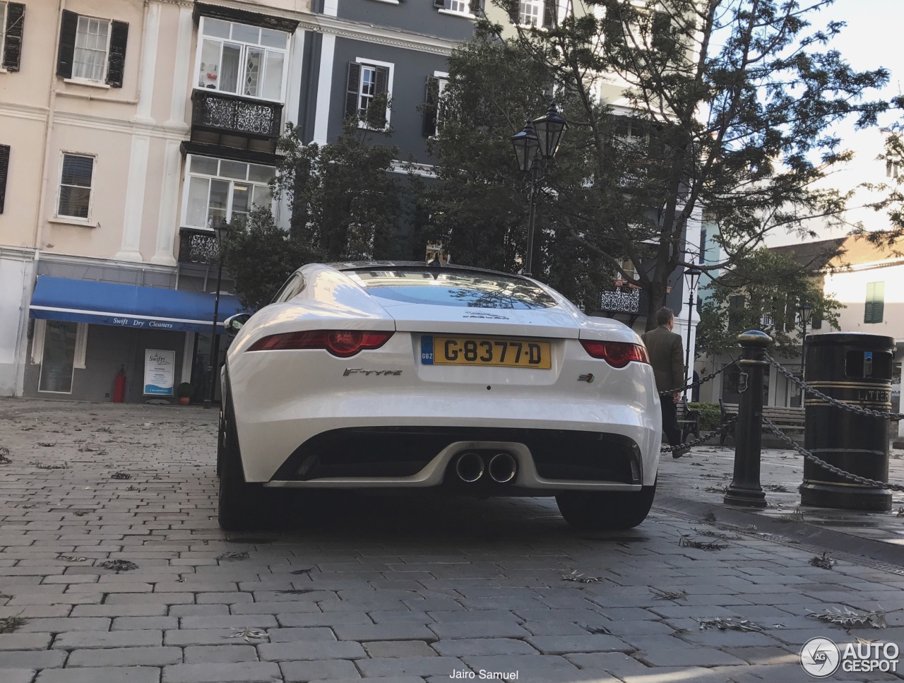
MULTIPOLYGON (((825 254, 828 256, 828 253, 825 254)), ((738 335, 749 329, 772 337, 772 353, 795 356, 800 347, 800 306, 811 306, 813 319, 838 329, 843 304, 826 297, 820 273, 790 255, 768 249, 751 251, 742 267, 730 270, 708 288, 700 307, 698 353, 739 350, 738 335)))

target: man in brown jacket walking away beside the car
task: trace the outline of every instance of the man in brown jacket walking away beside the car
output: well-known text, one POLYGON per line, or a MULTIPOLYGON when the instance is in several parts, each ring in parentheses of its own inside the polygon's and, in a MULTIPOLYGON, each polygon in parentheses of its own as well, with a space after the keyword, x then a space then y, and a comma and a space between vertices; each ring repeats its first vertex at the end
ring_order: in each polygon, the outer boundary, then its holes
MULTIPOLYGON (((672 328, 675 314, 672 308, 660 308, 656 312, 656 324, 659 327, 645 332, 641 338, 650 355, 650 365, 656 377, 656 389, 664 392, 684 384, 684 363, 681 335, 676 335, 672 328)), ((690 448, 682 446, 681 427, 678 426, 678 410, 675 404, 681 399, 681 392, 671 396, 660 396, 663 409, 663 432, 670 446, 679 448, 672 451, 673 458, 681 458, 690 448)))

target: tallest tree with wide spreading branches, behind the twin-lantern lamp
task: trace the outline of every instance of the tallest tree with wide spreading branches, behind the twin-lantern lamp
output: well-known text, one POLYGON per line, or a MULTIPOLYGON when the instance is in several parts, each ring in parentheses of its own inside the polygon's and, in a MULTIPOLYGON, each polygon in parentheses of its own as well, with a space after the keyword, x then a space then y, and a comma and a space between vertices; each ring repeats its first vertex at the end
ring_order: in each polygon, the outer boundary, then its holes
MULTIPOLYGON (((518 15, 518 0, 493 1, 518 15)), ((716 280, 723 271, 743 280, 740 268, 769 232, 805 236, 812 234, 810 219, 840 220, 848 194, 819 182, 850 153, 830 127, 848 117, 872 126, 889 107, 869 99, 888 71, 854 71, 831 49, 843 24, 822 30, 809 24, 830 3, 659 0, 646 8, 632 0, 587 0, 584 14, 551 16, 547 29, 516 26, 507 39, 510 29, 483 21, 477 47, 450 62, 441 105, 448 115, 436 152, 445 169, 440 177, 452 182, 442 185, 447 194, 438 205, 445 201, 451 211, 450 197, 458 194, 469 206, 497 208, 494 229, 522 221, 511 202, 493 201, 501 190, 484 180, 511 178, 494 176, 502 147, 468 152, 465 141, 507 138, 553 90, 570 121, 565 139, 572 157, 557 159, 546 180, 546 197, 555 196, 548 203, 555 220, 543 223, 554 231, 551 239, 567 238, 590 262, 626 278, 633 265, 636 283, 660 302, 673 272, 689 265, 687 227, 705 210, 719 225, 726 258, 702 269, 716 280), (485 69, 508 78, 507 64, 523 71, 512 92, 488 88, 494 74, 485 69), (463 116, 467 110, 480 116, 463 116), (484 174, 474 175, 484 182, 462 187, 451 169, 470 157, 484 165, 484 174), (579 171, 560 173, 570 162, 579 171)), ((511 231, 504 234, 511 238, 511 231)), ((509 242, 516 253, 523 243, 509 242)), ((506 243, 494 242, 497 250, 506 243)), ((545 270, 534 270, 551 273, 554 251, 548 242, 539 250, 545 270)))

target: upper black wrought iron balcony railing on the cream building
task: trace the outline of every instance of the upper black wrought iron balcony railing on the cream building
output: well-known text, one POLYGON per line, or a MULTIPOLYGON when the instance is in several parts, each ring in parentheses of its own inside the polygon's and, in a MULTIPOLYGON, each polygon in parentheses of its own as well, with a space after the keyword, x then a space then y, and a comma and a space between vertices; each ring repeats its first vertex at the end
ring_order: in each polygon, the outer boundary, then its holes
POLYGON ((282 104, 251 100, 213 90, 192 93, 192 128, 246 138, 275 139, 282 126, 282 104))

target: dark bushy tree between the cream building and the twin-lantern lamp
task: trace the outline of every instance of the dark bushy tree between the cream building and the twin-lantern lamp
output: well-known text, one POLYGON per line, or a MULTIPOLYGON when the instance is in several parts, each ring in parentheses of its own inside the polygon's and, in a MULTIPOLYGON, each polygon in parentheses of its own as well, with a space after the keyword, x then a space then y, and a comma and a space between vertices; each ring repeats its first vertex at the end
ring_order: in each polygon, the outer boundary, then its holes
POLYGON ((290 212, 288 231, 269 206, 256 206, 247 223, 233 222, 224 246, 224 267, 243 306, 267 305, 307 262, 388 257, 400 213, 399 183, 390 174, 399 149, 372 140, 391 135, 382 115, 388 106, 385 96, 374 98, 362 117, 345 119, 330 145, 303 145, 287 124, 270 187, 290 212))

